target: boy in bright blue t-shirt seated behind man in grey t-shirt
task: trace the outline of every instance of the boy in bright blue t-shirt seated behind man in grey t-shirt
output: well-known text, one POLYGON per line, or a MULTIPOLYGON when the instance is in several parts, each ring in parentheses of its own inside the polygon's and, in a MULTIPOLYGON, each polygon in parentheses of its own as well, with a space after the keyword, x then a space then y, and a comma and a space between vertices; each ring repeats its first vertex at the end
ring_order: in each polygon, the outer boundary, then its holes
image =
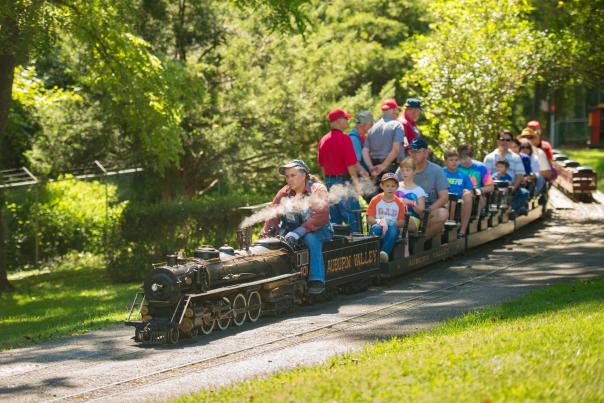
MULTIPOLYGON (((461 227, 459 228, 459 238, 466 236, 466 230, 470 223, 472 215, 472 200, 474 199, 474 185, 470 177, 462 172, 459 172, 459 154, 457 151, 447 151, 445 153, 445 167, 443 171, 449 181, 449 192, 457 195, 463 201, 461 204, 461 227)), ((455 210, 449 214, 453 215, 455 210)), ((454 220, 455 216, 449 216, 450 220, 454 220)))

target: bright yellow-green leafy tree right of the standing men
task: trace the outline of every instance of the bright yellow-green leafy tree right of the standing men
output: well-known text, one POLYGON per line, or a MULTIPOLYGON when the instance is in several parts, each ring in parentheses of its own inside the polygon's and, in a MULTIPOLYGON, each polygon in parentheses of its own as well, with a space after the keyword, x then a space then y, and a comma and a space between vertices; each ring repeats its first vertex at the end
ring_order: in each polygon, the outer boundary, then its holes
POLYGON ((424 97, 435 142, 485 153, 509 126, 515 97, 543 68, 545 37, 528 11, 504 0, 432 3, 431 30, 416 37, 403 82, 424 97))

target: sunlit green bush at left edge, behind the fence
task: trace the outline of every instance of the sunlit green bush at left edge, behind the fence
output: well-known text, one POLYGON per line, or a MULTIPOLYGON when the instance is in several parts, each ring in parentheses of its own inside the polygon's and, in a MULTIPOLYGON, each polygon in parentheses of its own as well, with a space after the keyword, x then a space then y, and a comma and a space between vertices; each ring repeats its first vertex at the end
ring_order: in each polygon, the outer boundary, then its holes
POLYGON ((15 269, 70 250, 101 253, 105 231, 118 222, 126 202, 117 188, 66 180, 7 193, 8 266, 15 269), (106 204, 107 202, 107 204, 106 204))

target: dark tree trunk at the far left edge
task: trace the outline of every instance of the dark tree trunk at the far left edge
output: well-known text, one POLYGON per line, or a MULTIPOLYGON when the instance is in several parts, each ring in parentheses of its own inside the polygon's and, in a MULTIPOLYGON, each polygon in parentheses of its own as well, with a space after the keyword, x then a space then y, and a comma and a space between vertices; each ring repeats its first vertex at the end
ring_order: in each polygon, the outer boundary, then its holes
MULTIPOLYGON (((5 153, 8 145, 8 112, 13 93, 16 59, 14 55, 0 54, 0 170, 7 169, 5 153)), ((12 290, 7 278, 6 262, 6 224, 2 210, 4 209, 4 192, 0 189, 0 293, 12 290)))

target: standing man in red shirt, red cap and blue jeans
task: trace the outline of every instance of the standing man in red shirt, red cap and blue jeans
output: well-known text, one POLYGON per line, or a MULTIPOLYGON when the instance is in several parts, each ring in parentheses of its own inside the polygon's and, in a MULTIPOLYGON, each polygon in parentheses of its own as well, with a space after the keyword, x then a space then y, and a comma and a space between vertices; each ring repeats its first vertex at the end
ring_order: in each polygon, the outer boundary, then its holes
MULTIPOLYGON (((340 108, 332 109, 327 114, 331 130, 319 141, 317 160, 323 168, 323 176, 328 189, 334 185, 350 184, 351 180, 358 188, 357 172, 364 171, 357 160, 352 140, 344 134, 350 117, 352 115, 340 108)), ((334 224, 345 222, 351 226, 353 232, 358 232, 361 228, 357 228, 353 211, 360 209, 361 206, 356 197, 343 195, 340 201, 329 207, 331 222, 334 224)))

